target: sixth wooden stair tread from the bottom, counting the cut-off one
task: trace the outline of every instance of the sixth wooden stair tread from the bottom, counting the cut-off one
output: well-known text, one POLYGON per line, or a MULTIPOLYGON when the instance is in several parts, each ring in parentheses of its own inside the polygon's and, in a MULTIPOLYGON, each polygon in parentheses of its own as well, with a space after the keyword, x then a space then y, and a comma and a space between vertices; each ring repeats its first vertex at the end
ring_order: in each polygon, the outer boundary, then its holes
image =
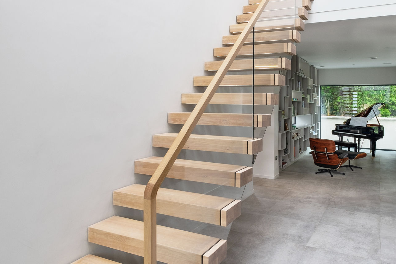
MULTIPOLYGON (((184 124, 190 116, 189 112, 168 113, 169 124, 184 124)), ((198 125, 228 125, 228 126, 255 126, 268 127, 271 125, 270 114, 229 114, 229 113, 204 113, 198 125), (254 120, 254 123, 253 123, 254 120)))

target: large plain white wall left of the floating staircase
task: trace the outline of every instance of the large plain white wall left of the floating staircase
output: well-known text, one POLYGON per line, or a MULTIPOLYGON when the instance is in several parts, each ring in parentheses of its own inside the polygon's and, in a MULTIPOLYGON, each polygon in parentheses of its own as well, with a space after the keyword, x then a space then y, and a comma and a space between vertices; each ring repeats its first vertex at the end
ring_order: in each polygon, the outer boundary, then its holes
POLYGON ((67 264, 246 0, 2 1, 0 255, 67 264))

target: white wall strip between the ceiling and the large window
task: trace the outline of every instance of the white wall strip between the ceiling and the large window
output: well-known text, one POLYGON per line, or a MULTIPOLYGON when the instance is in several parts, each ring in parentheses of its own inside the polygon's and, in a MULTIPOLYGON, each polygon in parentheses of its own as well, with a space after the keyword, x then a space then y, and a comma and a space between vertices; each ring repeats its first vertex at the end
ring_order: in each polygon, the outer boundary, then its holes
POLYGON ((319 70, 320 85, 396 84, 396 67, 319 70))

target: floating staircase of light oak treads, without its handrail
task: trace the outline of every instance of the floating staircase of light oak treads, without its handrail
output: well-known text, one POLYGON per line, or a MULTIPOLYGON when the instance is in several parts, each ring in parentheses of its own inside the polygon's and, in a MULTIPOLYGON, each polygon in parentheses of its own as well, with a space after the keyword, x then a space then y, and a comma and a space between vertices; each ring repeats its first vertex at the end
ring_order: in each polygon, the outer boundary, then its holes
MULTIPOLYGON (((300 32, 304 30, 304 20, 311 9, 311 0, 297 0, 299 6, 280 8, 279 4, 294 3, 294 0, 270 0, 254 29, 254 70, 257 71, 254 84, 265 89, 267 87, 284 86, 285 76, 273 73, 290 70, 291 61, 286 58, 296 55, 295 42, 300 42, 300 32), (286 10, 286 11, 285 11, 286 10), (284 12, 289 12, 285 15, 284 12), (289 15, 291 14, 291 15, 289 15), (276 20, 268 20, 276 18, 276 20), (273 71, 273 72, 268 72, 273 71)), ((230 35, 223 36, 225 47, 215 47, 213 56, 224 59, 246 23, 253 16, 261 0, 249 0, 243 7, 243 13, 236 18, 236 24, 230 25, 230 35)), ((248 32, 247 32, 248 33, 248 32)), ((252 86, 253 78, 249 71, 253 70, 253 30, 238 51, 229 72, 240 74, 225 75, 220 86, 223 91, 235 90, 235 87, 252 86), (249 57, 249 59, 244 59, 249 57), (242 74, 243 73, 243 74, 242 74)), ((223 61, 204 63, 204 70, 209 74, 222 68, 223 61)), ((206 89, 214 76, 196 76, 194 86, 206 89), (203 87, 203 88, 202 88, 203 87)), ((182 104, 198 104, 204 93, 184 93, 182 104)), ((279 96, 276 93, 215 93, 209 104, 212 105, 276 105, 279 96), (254 98, 254 99, 253 99, 254 98)), ((221 106, 220 106, 221 108, 221 106)), ((168 113, 169 124, 185 124, 190 112, 168 113)), ((230 127, 267 127, 271 124, 270 114, 245 114, 205 112, 198 125, 230 126, 230 127)), ((152 135, 152 146, 169 148, 177 137, 177 133, 152 135)), ((186 150, 223 152, 255 155, 263 150, 263 139, 252 137, 229 137, 218 135, 190 135, 186 150)), ((151 176, 159 167, 162 157, 148 157, 135 160, 134 171, 141 175, 151 176)), ((177 159, 167 174, 168 178, 216 184, 218 186, 244 187, 253 180, 253 168, 245 165, 230 165, 206 161, 177 159)), ((145 185, 132 184, 113 192, 114 205, 143 210, 145 185)), ((241 213, 241 201, 238 199, 197 194, 181 190, 160 188, 156 196, 157 213, 172 217, 185 218, 206 224, 228 226, 241 213)), ((219 264, 226 256, 227 242, 217 237, 204 236, 157 225, 157 260, 169 264, 219 264)), ((118 216, 89 226, 88 241, 127 253, 143 256, 143 222, 118 216)), ((155 244, 154 244, 155 245, 155 244)), ((87 255, 72 264, 118 264, 98 256, 87 255)))

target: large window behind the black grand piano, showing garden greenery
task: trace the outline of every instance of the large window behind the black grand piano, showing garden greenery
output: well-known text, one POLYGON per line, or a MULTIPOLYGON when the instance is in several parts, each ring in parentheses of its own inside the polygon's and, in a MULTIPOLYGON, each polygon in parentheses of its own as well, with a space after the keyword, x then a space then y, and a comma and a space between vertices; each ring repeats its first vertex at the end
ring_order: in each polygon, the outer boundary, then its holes
MULTIPOLYGON (((385 127, 385 136, 377 141, 377 149, 396 150, 396 85, 321 86, 322 138, 336 140, 331 135, 335 124, 343 123, 374 103, 385 103, 380 109, 379 122, 385 127)), ((369 123, 377 123, 374 118, 369 123)), ((362 143, 369 148, 369 141, 362 143)))

